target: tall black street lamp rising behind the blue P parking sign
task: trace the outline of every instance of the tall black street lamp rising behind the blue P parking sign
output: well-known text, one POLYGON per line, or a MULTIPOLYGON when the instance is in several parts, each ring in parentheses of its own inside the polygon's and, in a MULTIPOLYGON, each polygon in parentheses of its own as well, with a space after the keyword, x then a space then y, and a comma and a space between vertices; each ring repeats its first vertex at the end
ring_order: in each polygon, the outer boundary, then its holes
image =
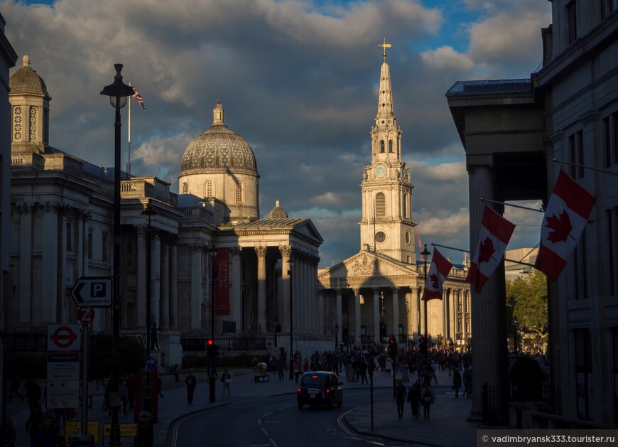
MULTIPOLYGON (((112 322, 114 325, 114 340, 120 338, 120 109, 126 104, 126 97, 133 95, 133 89, 122 82, 122 64, 114 64, 116 76, 114 82, 103 87, 101 95, 109 96, 109 104, 116 109, 116 122, 114 122, 114 297, 112 300, 112 322)), ((119 375, 112 375, 111 391, 114 394, 112 402, 117 399, 119 388, 119 375)), ((110 399, 112 400, 112 399, 110 399)), ((112 407, 112 429, 109 432, 109 446, 121 445, 120 425, 118 412, 120 405, 112 407)))

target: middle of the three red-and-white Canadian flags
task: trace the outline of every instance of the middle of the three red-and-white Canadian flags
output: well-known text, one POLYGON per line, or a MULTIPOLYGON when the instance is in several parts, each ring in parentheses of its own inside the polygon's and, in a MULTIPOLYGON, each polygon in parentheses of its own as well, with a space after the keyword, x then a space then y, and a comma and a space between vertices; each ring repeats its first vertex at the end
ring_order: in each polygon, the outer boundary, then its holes
POLYGON ((476 293, 481 293, 485 282, 502 261, 506 244, 509 243, 514 230, 513 223, 485 205, 479 246, 472 257, 470 271, 466 276, 466 281, 475 285, 476 293))

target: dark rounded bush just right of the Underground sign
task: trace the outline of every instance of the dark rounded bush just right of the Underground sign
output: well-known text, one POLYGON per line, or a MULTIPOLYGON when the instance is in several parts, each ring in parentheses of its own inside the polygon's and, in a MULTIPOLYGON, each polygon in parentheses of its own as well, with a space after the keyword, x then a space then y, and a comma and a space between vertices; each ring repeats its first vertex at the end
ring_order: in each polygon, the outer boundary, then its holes
POLYGON ((90 344, 90 379, 102 381, 114 372, 128 376, 139 372, 143 367, 146 350, 135 338, 121 337, 117 340, 110 335, 92 338, 90 344))

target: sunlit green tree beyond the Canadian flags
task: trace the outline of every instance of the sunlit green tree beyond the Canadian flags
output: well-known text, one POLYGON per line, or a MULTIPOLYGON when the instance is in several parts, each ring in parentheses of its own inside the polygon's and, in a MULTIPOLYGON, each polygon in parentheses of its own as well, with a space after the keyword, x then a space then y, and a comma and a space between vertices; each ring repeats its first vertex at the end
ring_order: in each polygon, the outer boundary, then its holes
POLYGON ((526 276, 506 281, 506 305, 513 311, 517 329, 533 335, 538 344, 548 337, 547 277, 534 270, 526 276))

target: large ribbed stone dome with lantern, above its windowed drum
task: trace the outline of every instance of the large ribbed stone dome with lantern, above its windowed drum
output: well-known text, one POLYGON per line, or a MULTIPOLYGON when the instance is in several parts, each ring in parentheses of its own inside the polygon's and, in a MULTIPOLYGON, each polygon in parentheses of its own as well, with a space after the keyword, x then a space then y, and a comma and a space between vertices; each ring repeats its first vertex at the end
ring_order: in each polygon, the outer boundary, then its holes
POLYGON ((217 101, 210 129, 198 135, 183 154, 180 176, 212 169, 249 170, 257 173, 251 146, 223 122, 223 107, 217 101))

